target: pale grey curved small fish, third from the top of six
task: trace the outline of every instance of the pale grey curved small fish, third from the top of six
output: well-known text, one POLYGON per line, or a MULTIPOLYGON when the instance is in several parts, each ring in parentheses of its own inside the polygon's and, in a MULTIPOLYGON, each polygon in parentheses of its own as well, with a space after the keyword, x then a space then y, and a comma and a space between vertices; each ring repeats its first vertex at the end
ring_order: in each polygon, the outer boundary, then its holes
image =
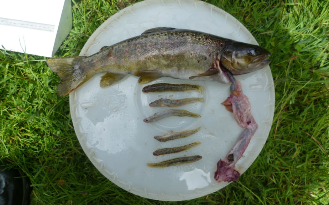
POLYGON ((177 110, 177 109, 169 109, 159 113, 154 113, 152 116, 145 118, 144 122, 156 122, 165 117, 169 116, 179 116, 179 117, 201 117, 201 115, 197 113, 191 113, 187 110, 177 110))

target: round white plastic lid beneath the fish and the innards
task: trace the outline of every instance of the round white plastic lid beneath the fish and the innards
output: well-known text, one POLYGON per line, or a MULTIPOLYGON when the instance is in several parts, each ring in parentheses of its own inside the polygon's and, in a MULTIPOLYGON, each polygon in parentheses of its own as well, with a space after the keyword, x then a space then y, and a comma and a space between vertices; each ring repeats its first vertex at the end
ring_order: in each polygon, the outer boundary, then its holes
MULTIPOLYGON (((154 27, 174 27, 208 32, 257 44, 249 31, 225 11, 194 0, 146 0, 129 6, 104 22, 89 38, 80 55, 91 55, 101 47, 137 36, 154 27)), ((229 96, 229 84, 161 78, 152 83, 190 83, 204 87, 202 94, 191 92, 142 93, 145 85, 126 76, 119 83, 100 88, 102 74, 95 75, 70 93, 70 109, 79 142, 94 166, 119 187, 146 198, 178 201, 215 192, 228 183, 214 179, 216 163, 223 159, 242 131, 232 113, 220 103, 229 96), (169 117, 155 123, 143 119, 168 108, 151 108, 159 98, 203 97, 180 107, 199 113, 201 118, 169 117), (202 129, 189 137, 159 142, 154 135, 168 131, 202 129), (153 156, 153 151, 195 141, 202 143, 188 151, 153 156), (187 165, 150 168, 146 163, 187 155, 202 159, 187 165)), ((274 86, 269 67, 236 76, 249 97, 259 129, 237 162, 243 173, 256 159, 268 136, 274 113, 274 86)), ((148 85, 148 84, 147 84, 148 85)), ((243 175, 241 176, 243 177, 243 175)))

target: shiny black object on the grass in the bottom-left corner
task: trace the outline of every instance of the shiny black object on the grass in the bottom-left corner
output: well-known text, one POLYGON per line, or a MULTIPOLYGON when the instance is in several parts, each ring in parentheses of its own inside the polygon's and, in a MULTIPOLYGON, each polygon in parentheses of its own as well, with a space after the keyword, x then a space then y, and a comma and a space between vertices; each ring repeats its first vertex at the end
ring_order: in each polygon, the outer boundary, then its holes
POLYGON ((16 169, 0 168, 0 205, 29 205, 31 181, 16 169))

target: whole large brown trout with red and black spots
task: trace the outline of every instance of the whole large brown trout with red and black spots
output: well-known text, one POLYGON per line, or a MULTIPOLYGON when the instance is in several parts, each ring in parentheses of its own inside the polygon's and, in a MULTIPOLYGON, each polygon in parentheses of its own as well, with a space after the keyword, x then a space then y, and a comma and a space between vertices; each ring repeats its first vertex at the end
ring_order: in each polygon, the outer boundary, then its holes
POLYGON ((153 28, 86 56, 50 58, 47 64, 61 82, 65 96, 94 74, 106 72, 100 86, 120 81, 127 74, 145 84, 160 77, 229 83, 226 72, 240 75, 264 68, 270 52, 208 33, 174 28, 153 28), (227 69, 227 70, 225 70, 227 69))

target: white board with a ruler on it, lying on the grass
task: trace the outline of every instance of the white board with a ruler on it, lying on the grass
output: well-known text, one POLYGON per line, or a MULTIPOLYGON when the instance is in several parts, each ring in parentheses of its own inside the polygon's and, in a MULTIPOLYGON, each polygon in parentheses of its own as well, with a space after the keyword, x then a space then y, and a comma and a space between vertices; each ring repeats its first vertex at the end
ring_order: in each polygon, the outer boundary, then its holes
POLYGON ((70 0, 0 1, 0 49, 52 57, 71 28, 70 0))

